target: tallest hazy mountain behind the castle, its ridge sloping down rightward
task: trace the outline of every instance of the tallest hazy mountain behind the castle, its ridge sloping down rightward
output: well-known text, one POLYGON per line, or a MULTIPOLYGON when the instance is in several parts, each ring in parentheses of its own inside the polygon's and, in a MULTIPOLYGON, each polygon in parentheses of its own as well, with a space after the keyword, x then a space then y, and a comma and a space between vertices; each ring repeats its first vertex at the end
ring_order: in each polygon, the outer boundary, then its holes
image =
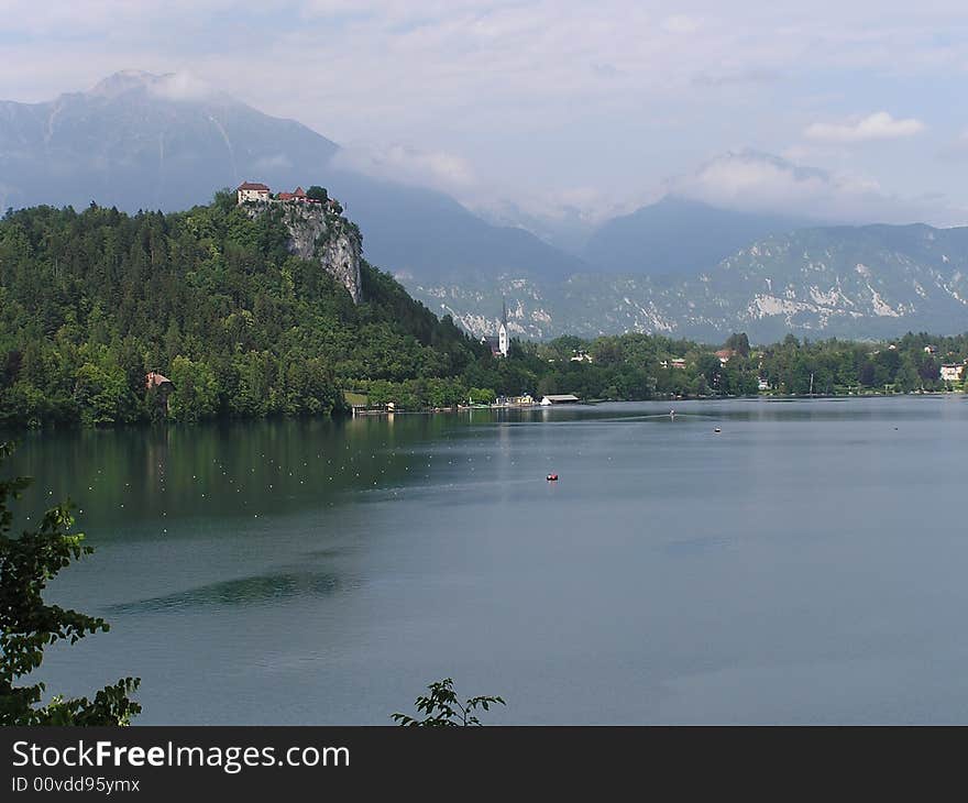
POLYGON ((242 180, 321 184, 367 232, 367 258, 402 277, 566 276, 582 263, 448 196, 333 165, 339 145, 185 76, 127 70, 43 103, 0 102, 0 208, 178 210, 242 180))

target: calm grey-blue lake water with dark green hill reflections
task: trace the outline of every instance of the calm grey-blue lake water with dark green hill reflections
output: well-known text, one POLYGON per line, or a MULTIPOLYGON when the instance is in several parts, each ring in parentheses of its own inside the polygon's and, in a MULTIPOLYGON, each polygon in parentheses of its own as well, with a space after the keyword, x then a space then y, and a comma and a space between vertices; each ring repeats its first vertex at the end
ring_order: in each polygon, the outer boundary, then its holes
POLYGON ((968 723, 968 403, 674 406, 26 437, 97 548, 54 596, 113 624, 45 678, 140 675, 142 724, 444 676, 492 722, 968 723))

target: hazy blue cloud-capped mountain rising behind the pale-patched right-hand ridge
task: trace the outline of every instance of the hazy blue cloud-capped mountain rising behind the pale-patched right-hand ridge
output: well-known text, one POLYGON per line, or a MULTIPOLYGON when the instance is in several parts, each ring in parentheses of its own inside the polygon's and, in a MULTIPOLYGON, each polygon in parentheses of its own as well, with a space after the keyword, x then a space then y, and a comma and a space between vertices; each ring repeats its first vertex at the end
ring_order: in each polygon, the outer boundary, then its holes
POLYGON ((696 274, 755 240, 802 228, 792 218, 718 209, 667 196, 605 222, 582 256, 603 273, 696 274))

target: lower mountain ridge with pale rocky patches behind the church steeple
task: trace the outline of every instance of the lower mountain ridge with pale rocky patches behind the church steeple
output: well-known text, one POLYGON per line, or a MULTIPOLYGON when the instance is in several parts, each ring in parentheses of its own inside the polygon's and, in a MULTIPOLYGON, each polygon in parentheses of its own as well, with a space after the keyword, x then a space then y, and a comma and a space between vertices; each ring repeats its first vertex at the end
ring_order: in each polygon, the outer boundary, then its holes
POLYGON ((722 342, 787 332, 889 338, 968 330, 968 228, 800 229, 758 240, 693 276, 576 274, 565 282, 504 276, 490 285, 428 285, 415 295, 464 327, 495 327, 508 299, 513 336, 624 331, 722 342))

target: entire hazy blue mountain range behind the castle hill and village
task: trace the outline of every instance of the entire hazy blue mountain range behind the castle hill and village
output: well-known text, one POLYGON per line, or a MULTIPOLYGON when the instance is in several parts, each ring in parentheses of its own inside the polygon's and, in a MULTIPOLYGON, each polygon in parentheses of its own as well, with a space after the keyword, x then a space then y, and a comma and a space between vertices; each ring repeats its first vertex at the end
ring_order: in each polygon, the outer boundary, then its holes
POLYGON ((968 229, 816 226, 668 197, 559 239, 566 252, 532 233, 546 233, 538 220, 488 222, 442 193, 342 167, 340 151, 177 75, 129 70, 48 102, 0 101, 0 206, 174 210, 245 179, 322 184, 372 263, 476 334, 495 330, 505 299, 512 332, 529 338, 968 329, 968 229))

